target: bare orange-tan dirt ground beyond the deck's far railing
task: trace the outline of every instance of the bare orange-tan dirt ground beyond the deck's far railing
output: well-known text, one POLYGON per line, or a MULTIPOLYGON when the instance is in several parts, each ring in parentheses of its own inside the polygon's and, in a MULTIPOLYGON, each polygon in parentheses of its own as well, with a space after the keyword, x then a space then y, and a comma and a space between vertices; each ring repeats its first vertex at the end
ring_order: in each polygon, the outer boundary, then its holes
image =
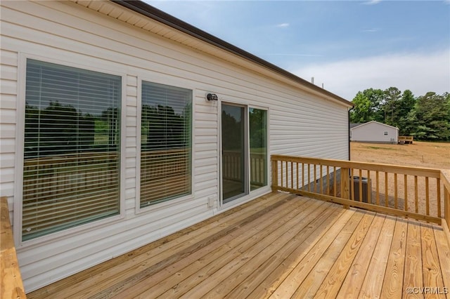
MULTIPOLYGON (((381 164, 395 164, 400 166, 414 166, 420 168, 446 168, 450 169, 450 143, 443 142, 413 142, 412 145, 385 145, 375 143, 352 142, 350 145, 352 161, 364 161, 381 164)), ((358 175, 358 174, 355 174, 358 175)), ((367 176, 366 171, 362 173, 367 176)), ((375 175, 371 172, 371 201, 376 201, 376 180, 375 175)), ((413 175, 397 175, 390 173, 387 175, 387 192, 385 192, 385 173, 379 173, 378 181, 378 199, 382 206, 390 206, 392 208, 407 209, 411 212, 425 213, 427 188, 425 178, 417 178, 416 182, 413 175), (397 180, 397 189, 395 188, 395 180, 397 180), (406 185, 406 192, 405 192, 406 185), (417 194, 417 195, 416 195, 417 194), (416 201, 417 196, 417 201, 416 201), (388 203, 386 204, 385 198, 388 203), (405 208, 405 198, 407 207, 405 208), (417 204, 416 204, 417 203, 417 204)), ((437 202, 437 180, 430 178, 428 182, 428 198, 429 198, 429 215, 442 217, 444 207, 444 194, 442 182, 439 190, 441 193, 441 204, 437 202), (439 210, 441 213, 439 215, 439 210)))

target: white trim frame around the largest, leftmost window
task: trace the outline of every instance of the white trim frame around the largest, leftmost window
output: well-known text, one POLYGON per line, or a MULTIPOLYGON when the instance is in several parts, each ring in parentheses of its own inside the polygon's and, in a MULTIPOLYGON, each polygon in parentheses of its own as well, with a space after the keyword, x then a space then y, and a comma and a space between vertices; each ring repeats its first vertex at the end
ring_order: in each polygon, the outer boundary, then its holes
POLYGON ((22 248, 29 248, 36 245, 48 243, 50 241, 56 241, 58 239, 65 239, 72 237, 73 234, 79 234, 82 232, 90 232, 109 225, 111 222, 117 222, 125 217, 125 150, 126 150, 126 112, 127 112, 127 73, 126 69, 120 69, 122 72, 117 72, 116 69, 103 68, 103 64, 96 63, 98 60, 93 59, 89 65, 77 64, 66 60, 58 60, 55 58, 49 58, 41 55, 34 55, 32 53, 18 53, 18 93, 17 93, 17 106, 16 106, 16 135, 15 135, 15 194, 14 194, 14 219, 13 219, 13 235, 14 242, 18 251, 22 248), (59 232, 53 232, 46 234, 42 237, 37 237, 27 241, 22 241, 22 211, 23 211, 23 162, 24 162, 24 146, 25 146, 25 87, 26 87, 26 74, 27 74, 27 59, 39 60, 43 62, 55 63, 58 65, 64 65, 67 67, 77 67, 79 69, 86 69, 94 72, 102 72, 105 74, 112 74, 120 76, 122 80, 122 93, 120 99, 120 212, 118 215, 114 215, 105 219, 95 220, 83 225, 77 225, 76 227, 70 227, 59 232), (92 65, 101 65, 102 67, 92 67, 92 65))

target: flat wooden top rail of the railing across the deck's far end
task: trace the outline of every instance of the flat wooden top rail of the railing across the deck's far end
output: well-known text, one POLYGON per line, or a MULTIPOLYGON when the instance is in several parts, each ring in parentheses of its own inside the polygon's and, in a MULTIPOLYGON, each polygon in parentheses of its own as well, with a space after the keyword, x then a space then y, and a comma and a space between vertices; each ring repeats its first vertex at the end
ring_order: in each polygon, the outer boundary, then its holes
POLYGON ((368 171, 383 171, 389 173, 399 173, 406 175, 418 175, 429 178, 440 178, 441 170, 437 168, 425 168, 425 167, 413 167, 413 166, 401 166, 393 164, 375 164, 368 162, 356 162, 345 161, 335 159, 321 159, 310 157, 296 157, 273 154, 271 155, 271 161, 293 161, 298 163, 316 164, 322 166, 335 166, 340 168, 358 168, 366 169, 368 171))

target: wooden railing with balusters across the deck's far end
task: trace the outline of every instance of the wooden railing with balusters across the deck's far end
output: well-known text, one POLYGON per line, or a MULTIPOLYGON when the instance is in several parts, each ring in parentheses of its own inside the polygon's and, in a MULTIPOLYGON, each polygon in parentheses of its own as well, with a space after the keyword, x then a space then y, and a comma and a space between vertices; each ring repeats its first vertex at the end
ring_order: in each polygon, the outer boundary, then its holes
POLYGON ((272 189, 450 225, 450 171, 271 156, 272 189))

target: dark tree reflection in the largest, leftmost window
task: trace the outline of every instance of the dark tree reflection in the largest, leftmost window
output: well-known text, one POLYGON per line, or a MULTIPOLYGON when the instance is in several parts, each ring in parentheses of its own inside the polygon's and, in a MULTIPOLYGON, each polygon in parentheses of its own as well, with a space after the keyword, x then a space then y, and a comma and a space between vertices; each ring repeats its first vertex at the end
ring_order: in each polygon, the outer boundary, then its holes
POLYGON ((94 115, 58 101, 43 108, 25 104, 25 158, 117 150, 119 126, 113 107, 94 115))

